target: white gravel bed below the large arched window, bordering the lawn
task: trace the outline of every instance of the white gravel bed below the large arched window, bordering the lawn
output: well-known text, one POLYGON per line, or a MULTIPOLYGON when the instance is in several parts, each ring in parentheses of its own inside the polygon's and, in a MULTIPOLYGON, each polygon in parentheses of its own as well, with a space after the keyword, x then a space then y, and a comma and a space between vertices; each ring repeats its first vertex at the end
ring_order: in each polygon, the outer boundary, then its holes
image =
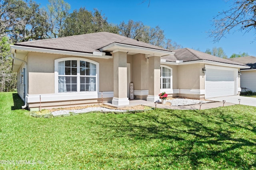
POLYGON ((53 111, 52 115, 67 115, 70 113, 86 113, 90 111, 115 111, 115 112, 125 112, 127 110, 116 110, 116 109, 108 109, 105 107, 87 107, 85 109, 77 109, 77 110, 58 110, 58 111, 53 111))

